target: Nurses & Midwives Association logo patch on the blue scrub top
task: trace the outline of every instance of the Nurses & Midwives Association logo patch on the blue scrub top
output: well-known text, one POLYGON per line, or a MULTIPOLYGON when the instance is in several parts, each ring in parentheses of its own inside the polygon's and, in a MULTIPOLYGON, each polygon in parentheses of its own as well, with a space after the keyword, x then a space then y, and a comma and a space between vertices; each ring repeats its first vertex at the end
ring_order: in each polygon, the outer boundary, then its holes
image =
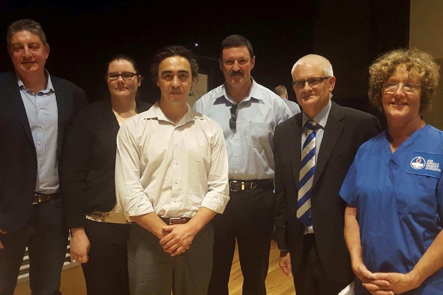
POLYGON ((442 168, 443 154, 414 151, 407 172, 439 179, 442 168))

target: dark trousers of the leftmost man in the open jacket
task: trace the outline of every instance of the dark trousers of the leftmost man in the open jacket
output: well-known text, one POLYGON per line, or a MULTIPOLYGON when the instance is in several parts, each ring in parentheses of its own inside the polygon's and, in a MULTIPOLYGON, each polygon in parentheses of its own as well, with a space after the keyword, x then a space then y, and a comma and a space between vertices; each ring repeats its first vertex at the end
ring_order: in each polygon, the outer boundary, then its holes
POLYGON ((14 293, 26 246, 32 295, 61 294, 60 277, 68 243, 61 199, 33 205, 31 225, 0 234, 0 239, 5 246, 0 249, 0 294, 14 293))

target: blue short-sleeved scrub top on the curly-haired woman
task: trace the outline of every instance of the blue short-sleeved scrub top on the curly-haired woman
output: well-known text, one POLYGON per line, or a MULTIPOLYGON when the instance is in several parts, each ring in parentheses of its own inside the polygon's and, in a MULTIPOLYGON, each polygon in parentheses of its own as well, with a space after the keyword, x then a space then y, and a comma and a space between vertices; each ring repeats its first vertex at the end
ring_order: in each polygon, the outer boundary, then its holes
MULTIPOLYGON (((392 153, 384 131, 358 150, 340 189, 357 207, 363 262, 372 272, 411 271, 441 230, 443 132, 426 125, 392 153)), ((370 294, 356 279, 356 294, 370 294)), ((443 269, 413 294, 440 294, 443 269)))

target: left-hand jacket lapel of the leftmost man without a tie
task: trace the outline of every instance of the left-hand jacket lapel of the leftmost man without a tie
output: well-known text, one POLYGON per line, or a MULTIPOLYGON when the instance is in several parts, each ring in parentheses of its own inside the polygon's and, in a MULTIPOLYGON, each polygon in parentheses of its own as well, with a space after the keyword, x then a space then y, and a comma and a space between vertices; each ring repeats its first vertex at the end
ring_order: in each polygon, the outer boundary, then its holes
POLYGON ((9 94, 9 98, 14 105, 15 111, 17 112, 17 115, 19 115, 20 123, 22 123, 22 126, 25 129, 28 140, 31 142, 32 146, 34 146, 31 127, 29 127, 28 115, 26 114, 25 105, 23 104, 22 96, 20 95, 19 86, 17 84, 14 72, 9 72, 5 86, 6 91, 9 94))

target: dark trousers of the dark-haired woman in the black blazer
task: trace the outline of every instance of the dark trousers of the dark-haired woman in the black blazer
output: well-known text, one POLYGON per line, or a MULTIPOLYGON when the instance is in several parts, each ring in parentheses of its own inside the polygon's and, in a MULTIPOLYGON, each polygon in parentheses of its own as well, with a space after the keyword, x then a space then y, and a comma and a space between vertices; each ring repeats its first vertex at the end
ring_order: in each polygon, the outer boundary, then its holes
POLYGON ((130 224, 86 220, 91 244, 82 264, 88 295, 128 295, 127 238, 130 224))

